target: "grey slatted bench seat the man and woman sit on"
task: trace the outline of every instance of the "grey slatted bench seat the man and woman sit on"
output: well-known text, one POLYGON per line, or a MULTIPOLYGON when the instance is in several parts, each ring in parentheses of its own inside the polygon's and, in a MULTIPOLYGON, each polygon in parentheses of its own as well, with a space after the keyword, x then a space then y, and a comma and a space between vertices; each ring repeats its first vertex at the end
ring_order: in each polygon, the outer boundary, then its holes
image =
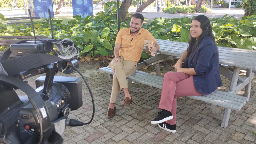
MULTIPOLYGON (((114 75, 114 72, 109 67, 100 68, 99 71, 108 73, 108 76, 110 78, 112 78, 111 75, 114 75)), ((163 79, 164 77, 162 76, 156 76, 153 74, 148 74, 148 73, 137 70, 136 73, 134 73, 132 76, 127 77, 128 90, 131 90, 132 81, 162 89, 163 79)), ((249 98, 247 97, 238 96, 238 95, 230 94, 227 92, 221 92, 218 90, 204 96, 188 96, 188 97, 211 103, 212 111, 214 112, 217 112, 221 107, 230 108, 230 109, 239 111, 241 108, 243 108, 246 102, 249 101, 249 98)), ((225 123, 228 123, 228 120, 229 120, 229 116, 226 117, 224 115, 222 122, 225 121, 225 123)))

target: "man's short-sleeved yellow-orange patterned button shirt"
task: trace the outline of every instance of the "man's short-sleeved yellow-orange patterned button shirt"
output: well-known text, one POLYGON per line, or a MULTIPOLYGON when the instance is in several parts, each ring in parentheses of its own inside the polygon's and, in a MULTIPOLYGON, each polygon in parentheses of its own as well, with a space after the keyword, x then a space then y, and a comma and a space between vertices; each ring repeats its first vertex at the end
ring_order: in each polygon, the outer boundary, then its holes
POLYGON ((121 29, 116 37, 116 43, 121 44, 119 56, 124 57, 124 60, 135 62, 137 66, 143 51, 144 40, 153 40, 153 43, 156 42, 156 39, 147 29, 140 28, 134 36, 130 34, 130 28, 121 29))

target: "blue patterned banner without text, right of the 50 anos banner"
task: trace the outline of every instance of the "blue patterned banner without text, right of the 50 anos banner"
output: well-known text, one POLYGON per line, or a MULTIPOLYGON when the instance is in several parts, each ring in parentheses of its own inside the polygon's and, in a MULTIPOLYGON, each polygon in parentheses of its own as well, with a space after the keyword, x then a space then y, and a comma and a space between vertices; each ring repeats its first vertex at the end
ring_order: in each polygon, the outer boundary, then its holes
POLYGON ((81 15, 86 18, 93 15, 92 0, 72 0, 73 16, 81 15))

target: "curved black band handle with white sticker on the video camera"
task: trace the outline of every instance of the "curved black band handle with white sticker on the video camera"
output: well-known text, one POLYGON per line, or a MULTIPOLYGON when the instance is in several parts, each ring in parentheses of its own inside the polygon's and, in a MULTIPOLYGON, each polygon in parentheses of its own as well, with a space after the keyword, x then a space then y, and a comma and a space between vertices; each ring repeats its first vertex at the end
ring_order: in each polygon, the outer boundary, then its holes
POLYGON ((41 96, 31 86, 29 86, 27 83, 24 83, 20 79, 0 74, 0 81, 11 84, 27 94, 29 101, 36 111, 37 122, 40 126, 39 144, 46 143, 51 135, 51 121, 48 109, 46 108, 41 96), (45 115, 43 116, 43 112, 46 112, 46 117, 45 115))

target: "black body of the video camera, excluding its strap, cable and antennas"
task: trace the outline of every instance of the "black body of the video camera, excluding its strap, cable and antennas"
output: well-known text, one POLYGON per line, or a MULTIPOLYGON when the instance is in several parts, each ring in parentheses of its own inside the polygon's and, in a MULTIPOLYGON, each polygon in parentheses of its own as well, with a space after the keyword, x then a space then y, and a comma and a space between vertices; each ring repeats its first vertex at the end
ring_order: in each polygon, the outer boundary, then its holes
MULTIPOLYGON (((49 52, 49 47, 45 48, 45 46, 51 46, 51 44, 36 42, 27 48, 24 45, 26 43, 23 42, 11 45, 13 54, 20 56, 17 58, 33 54, 41 55, 41 58, 50 56, 45 54, 49 52), (44 50, 43 57, 39 48, 44 50)), ((4 66, 4 62, 0 64, 4 66)), ((79 67, 76 59, 69 59, 28 69, 13 76, 0 74, 1 144, 57 144, 63 141, 61 135, 68 125, 69 112, 83 105, 81 80, 74 77, 55 76, 58 71, 72 73, 74 69, 70 69, 69 65, 79 67), (42 73, 46 73, 46 76, 36 79, 36 90, 23 82, 26 78, 42 73), (14 89, 26 91, 27 95, 18 96, 14 89)))

